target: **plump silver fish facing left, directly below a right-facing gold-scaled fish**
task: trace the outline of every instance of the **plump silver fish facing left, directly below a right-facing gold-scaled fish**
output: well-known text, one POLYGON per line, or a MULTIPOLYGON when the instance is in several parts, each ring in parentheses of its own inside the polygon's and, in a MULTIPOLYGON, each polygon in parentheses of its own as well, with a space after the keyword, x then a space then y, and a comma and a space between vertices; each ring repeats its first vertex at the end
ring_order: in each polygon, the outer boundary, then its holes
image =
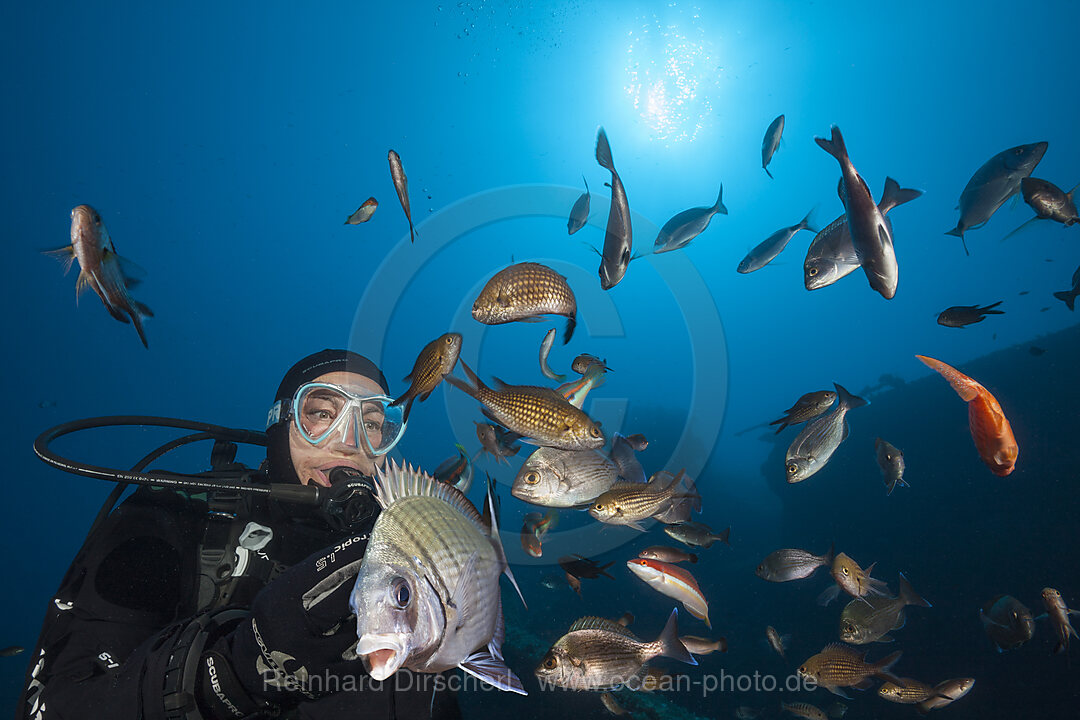
POLYGON ((544 507, 575 507, 611 489, 618 467, 599 450, 538 448, 517 471, 510 494, 544 507))

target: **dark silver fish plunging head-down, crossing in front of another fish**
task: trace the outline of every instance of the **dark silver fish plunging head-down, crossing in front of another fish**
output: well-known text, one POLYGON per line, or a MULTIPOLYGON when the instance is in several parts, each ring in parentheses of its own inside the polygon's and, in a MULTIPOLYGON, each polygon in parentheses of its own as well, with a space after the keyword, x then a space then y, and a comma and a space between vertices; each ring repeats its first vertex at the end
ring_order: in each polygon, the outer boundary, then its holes
POLYGON ((859 263, 866 273, 870 287, 891 300, 896 295, 900 269, 896 253, 892 247, 892 230, 874 202, 866 180, 859 175, 848 155, 840 128, 833 125, 832 139, 815 137, 814 140, 825 152, 836 158, 843 176, 843 208, 848 215, 848 230, 851 244, 859 256, 859 263))

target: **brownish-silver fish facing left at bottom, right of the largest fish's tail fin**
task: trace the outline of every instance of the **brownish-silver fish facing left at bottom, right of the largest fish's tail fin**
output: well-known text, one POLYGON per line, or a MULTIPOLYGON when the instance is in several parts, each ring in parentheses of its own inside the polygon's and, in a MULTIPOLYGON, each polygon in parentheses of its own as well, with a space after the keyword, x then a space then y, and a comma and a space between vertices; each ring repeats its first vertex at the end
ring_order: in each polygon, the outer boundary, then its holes
POLYGON ((697 665, 678 641, 678 611, 673 610, 663 631, 644 642, 627 628, 605 617, 582 617, 555 641, 537 666, 541 688, 615 690, 636 683, 645 664, 664 656, 697 665))

